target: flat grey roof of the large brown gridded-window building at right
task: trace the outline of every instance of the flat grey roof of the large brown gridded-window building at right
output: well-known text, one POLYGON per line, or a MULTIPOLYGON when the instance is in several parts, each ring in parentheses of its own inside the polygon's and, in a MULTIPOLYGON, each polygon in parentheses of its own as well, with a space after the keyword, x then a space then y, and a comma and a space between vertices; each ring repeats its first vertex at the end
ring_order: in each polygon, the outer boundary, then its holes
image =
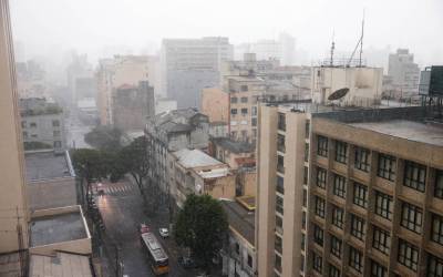
POLYGON ((443 146, 443 124, 437 126, 436 124, 432 123, 392 120, 381 122, 351 123, 349 125, 409 141, 443 146))

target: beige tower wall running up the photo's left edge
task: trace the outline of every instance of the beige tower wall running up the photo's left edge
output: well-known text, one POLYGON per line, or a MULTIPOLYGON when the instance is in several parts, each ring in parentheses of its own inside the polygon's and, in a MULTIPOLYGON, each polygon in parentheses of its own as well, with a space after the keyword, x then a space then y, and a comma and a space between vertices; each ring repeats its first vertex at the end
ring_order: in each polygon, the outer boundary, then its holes
POLYGON ((8 0, 0 0, 0 253, 28 247, 28 207, 8 0))

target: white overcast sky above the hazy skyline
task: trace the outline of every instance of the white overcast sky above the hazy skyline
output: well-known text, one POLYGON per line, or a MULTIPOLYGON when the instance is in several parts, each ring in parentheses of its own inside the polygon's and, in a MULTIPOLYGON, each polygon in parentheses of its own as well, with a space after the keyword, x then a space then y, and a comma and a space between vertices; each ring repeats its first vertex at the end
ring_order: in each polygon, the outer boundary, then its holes
POLYGON ((11 0, 13 35, 27 55, 104 47, 154 52, 162 38, 226 35, 231 43, 274 39, 321 58, 332 31, 352 51, 365 10, 364 47, 409 48, 421 63, 443 63, 443 0, 11 0))

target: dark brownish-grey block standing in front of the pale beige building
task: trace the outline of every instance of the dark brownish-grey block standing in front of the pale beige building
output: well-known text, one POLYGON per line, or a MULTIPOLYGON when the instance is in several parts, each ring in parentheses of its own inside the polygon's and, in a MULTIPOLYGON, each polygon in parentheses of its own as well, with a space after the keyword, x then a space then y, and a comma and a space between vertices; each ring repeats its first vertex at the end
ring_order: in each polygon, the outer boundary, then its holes
POLYGON ((147 81, 123 84, 112 93, 114 126, 123 131, 144 130, 146 119, 155 115, 154 88, 147 81))

